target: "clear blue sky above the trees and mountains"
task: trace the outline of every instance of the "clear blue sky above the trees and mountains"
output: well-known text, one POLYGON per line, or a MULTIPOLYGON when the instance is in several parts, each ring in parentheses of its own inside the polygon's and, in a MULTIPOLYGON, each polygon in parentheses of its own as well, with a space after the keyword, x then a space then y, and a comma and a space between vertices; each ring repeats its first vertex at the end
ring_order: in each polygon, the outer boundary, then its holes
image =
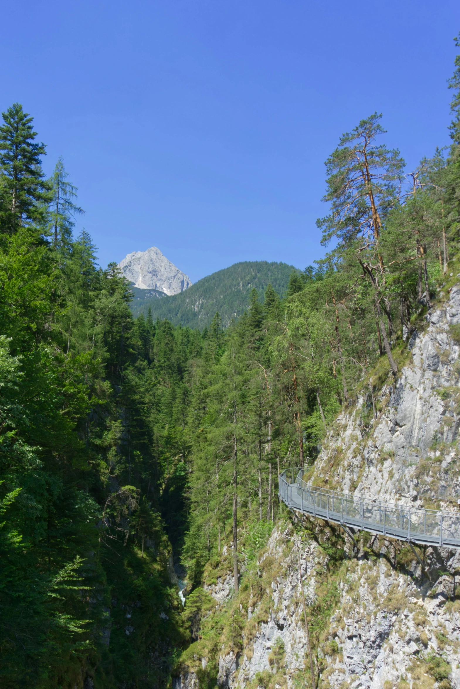
POLYGON ((2 3, 0 107, 79 187, 101 265, 157 246, 191 280, 324 254, 324 160, 375 110, 408 167, 449 143, 458 0, 2 3))

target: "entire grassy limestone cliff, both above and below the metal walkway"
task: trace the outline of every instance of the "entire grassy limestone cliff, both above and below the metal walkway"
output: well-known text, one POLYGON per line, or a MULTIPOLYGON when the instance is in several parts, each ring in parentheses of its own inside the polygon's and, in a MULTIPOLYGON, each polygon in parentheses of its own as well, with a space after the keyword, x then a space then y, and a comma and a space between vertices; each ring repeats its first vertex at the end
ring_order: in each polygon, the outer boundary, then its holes
MULTIPOLYGON (((460 287, 445 297, 410 335, 397 380, 375 393, 377 418, 364 390, 337 418, 308 482, 458 508, 460 287)), ((174 689, 211 681, 229 689, 310 687, 301 585, 319 689, 460 689, 460 551, 416 546, 422 568, 404 542, 364 533, 353 552, 338 526, 304 517, 296 529, 299 518, 286 513, 278 522, 238 597, 230 571, 204 582, 216 610, 174 689), (300 534, 299 571, 293 542, 300 534)))

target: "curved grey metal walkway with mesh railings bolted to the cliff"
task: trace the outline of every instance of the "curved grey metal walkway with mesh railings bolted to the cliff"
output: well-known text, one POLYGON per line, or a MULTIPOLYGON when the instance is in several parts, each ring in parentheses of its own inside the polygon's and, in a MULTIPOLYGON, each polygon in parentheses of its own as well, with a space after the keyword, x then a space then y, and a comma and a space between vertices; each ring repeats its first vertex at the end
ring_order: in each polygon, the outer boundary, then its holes
POLYGON ((286 469, 279 477, 278 495, 293 511, 409 543, 460 548, 460 512, 366 500, 309 486, 302 476, 303 469, 286 469))

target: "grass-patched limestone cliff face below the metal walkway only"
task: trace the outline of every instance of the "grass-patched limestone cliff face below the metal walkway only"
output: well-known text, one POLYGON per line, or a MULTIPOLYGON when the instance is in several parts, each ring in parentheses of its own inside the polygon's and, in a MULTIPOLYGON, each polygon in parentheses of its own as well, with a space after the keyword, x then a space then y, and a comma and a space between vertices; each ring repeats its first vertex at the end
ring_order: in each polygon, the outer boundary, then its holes
MULTIPOLYGON (((227 624, 239 615, 241 639, 232 640, 233 648, 225 634, 211 648, 192 644, 195 652, 174 677, 174 689, 210 686, 205 670, 212 664, 222 688, 311 686, 293 537, 291 524, 273 530, 249 575, 249 595, 223 601, 216 587, 216 621, 227 602, 227 624)), ((430 581, 412 551, 399 545, 379 539, 361 557, 331 568, 320 545, 303 542, 302 585, 307 610, 314 611, 310 634, 320 689, 460 689, 460 599, 457 592, 452 600, 452 576, 443 573, 460 566, 460 555, 428 549, 430 581), (395 557, 406 564, 395 566, 395 557)))

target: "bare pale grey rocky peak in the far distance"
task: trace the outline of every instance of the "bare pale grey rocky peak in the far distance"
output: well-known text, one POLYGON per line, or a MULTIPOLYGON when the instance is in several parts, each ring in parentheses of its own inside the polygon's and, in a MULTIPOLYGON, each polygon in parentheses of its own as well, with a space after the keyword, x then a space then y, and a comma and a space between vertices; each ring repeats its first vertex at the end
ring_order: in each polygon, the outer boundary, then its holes
POLYGON ((158 289, 168 296, 190 287, 190 278, 163 256, 160 249, 133 251, 118 263, 125 278, 140 289, 158 289))

